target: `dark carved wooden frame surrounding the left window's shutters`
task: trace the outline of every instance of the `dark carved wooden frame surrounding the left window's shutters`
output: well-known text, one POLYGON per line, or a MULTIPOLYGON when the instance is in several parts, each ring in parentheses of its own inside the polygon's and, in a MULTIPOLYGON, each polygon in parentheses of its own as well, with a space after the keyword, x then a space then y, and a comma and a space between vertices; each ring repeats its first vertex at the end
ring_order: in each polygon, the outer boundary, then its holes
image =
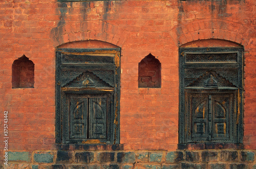
MULTIPOLYGON (((56 143, 118 144, 119 103, 120 49, 56 50, 56 143), (95 138, 91 131, 80 138, 74 136, 69 110, 72 98, 105 98, 106 133, 102 138, 95 138)), ((87 122, 82 123, 88 123, 89 119, 83 119, 87 122)))

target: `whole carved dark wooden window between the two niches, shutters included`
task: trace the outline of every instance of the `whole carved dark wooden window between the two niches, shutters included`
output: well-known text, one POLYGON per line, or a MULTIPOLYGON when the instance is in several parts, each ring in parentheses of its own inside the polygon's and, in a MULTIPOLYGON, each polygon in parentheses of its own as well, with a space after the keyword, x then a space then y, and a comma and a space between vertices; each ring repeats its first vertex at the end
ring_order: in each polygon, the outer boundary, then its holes
POLYGON ((119 60, 119 49, 57 49, 56 142, 119 143, 119 60))

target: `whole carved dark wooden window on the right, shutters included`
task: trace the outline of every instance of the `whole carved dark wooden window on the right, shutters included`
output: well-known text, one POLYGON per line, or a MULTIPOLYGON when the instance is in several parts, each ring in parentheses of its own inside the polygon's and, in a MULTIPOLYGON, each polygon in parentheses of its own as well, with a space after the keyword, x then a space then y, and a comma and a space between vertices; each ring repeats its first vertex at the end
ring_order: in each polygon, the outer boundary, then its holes
POLYGON ((179 142, 243 139, 243 48, 180 48, 179 142))

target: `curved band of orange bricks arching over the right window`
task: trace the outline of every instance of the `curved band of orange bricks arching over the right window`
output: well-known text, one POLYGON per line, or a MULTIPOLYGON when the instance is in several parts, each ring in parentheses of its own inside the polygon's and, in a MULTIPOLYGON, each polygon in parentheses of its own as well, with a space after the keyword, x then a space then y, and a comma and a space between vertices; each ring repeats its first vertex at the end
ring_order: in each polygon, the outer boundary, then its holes
POLYGON ((170 30, 177 46, 201 39, 223 39, 246 45, 255 31, 240 23, 222 19, 204 19, 170 30))

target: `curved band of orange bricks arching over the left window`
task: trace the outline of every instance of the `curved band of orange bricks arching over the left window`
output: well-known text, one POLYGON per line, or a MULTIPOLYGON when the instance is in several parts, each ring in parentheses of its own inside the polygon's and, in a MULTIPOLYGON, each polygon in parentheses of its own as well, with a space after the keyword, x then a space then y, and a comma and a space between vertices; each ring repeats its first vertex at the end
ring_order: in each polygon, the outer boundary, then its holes
POLYGON ((53 28, 49 37, 54 47, 81 40, 100 40, 121 47, 127 37, 127 31, 103 21, 85 21, 53 28))

